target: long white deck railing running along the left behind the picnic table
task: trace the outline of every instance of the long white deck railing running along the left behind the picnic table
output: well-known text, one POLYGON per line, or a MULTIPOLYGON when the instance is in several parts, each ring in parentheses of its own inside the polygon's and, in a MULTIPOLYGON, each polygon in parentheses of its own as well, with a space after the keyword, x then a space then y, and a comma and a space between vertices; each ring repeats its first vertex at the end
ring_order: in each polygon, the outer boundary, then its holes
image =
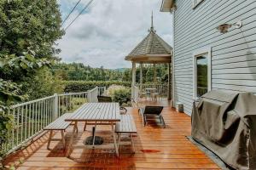
POLYGON ((14 117, 15 128, 9 133, 7 144, 1 150, 10 153, 34 139, 45 126, 67 112, 73 112, 86 102, 97 102, 97 95, 106 94, 106 88, 88 92, 55 94, 43 99, 13 105, 8 114, 14 117))

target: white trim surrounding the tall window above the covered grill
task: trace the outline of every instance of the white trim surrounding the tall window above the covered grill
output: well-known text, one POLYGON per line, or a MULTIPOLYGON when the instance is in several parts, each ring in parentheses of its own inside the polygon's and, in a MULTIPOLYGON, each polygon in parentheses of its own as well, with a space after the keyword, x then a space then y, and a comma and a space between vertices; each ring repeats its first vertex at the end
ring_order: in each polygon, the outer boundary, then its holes
POLYGON ((207 55, 207 61, 208 61, 208 70, 207 70, 207 82, 208 82, 208 92, 212 90, 212 48, 206 47, 206 48, 199 48, 195 50, 193 53, 193 98, 197 98, 197 91, 196 91, 196 58, 199 57, 201 54, 208 54, 207 55))

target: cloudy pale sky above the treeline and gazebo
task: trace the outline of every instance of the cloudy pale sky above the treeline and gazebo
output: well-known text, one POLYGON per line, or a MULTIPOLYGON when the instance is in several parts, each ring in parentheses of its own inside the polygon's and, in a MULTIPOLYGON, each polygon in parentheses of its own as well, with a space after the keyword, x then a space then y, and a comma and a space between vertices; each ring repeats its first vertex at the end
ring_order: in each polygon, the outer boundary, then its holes
MULTIPOLYGON (((58 0, 62 19, 78 0, 58 0)), ((89 0, 81 0, 78 8, 62 26, 65 28, 89 0)), ((77 62, 107 69, 129 68, 125 56, 148 35, 151 13, 154 29, 171 46, 172 14, 160 12, 161 0, 95 0, 66 34, 57 42, 62 61, 77 62)))

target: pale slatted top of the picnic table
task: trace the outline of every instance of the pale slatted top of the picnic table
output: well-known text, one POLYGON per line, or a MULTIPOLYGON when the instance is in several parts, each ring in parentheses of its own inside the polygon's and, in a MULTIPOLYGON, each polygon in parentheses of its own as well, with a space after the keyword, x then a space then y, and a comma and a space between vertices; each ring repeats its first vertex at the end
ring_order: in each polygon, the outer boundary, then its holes
POLYGON ((120 122, 119 103, 87 103, 79 107, 67 122, 120 122))

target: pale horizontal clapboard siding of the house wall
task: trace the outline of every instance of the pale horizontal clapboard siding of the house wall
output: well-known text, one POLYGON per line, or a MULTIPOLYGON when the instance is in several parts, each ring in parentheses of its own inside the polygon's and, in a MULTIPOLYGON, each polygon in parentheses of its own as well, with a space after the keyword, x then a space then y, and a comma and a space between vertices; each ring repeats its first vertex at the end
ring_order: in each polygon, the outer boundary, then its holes
POLYGON ((191 114, 193 103, 193 53, 212 48, 212 89, 256 94, 256 1, 204 0, 195 9, 191 0, 177 0, 174 16, 175 103, 191 114), (243 26, 220 33, 224 23, 243 26))

